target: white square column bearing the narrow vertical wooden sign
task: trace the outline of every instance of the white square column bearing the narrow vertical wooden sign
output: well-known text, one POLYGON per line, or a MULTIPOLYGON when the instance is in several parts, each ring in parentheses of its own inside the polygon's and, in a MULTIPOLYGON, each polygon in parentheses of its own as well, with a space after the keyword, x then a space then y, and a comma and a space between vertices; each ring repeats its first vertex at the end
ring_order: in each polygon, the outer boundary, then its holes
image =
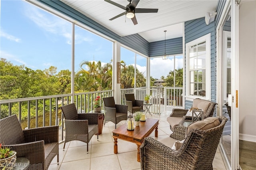
POLYGON ((114 99, 116 104, 120 104, 120 83, 118 83, 118 77, 117 77, 117 62, 121 61, 121 56, 120 56, 120 43, 119 42, 114 42, 114 56, 113 56, 113 68, 112 68, 112 87, 114 90, 114 99))

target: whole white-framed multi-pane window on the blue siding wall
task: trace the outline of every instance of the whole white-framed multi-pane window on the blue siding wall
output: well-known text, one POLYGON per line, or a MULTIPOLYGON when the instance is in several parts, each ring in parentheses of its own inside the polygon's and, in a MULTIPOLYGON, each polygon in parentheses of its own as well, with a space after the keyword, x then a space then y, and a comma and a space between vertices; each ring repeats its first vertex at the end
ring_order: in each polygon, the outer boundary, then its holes
POLYGON ((210 98, 210 34, 186 44, 188 96, 210 98))

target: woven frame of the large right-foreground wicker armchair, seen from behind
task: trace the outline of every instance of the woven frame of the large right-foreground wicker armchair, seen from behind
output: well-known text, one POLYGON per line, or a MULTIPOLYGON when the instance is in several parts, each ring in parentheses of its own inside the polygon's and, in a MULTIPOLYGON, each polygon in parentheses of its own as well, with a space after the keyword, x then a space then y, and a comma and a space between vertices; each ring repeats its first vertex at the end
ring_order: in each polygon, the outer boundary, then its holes
POLYGON ((216 127, 207 130, 198 128, 190 130, 178 150, 173 150, 152 137, 146 137, 140 146, 141 169, 212 170, 212 161, 228 120, 226 117, 218 117, 218 119, 220 125, 216 127))

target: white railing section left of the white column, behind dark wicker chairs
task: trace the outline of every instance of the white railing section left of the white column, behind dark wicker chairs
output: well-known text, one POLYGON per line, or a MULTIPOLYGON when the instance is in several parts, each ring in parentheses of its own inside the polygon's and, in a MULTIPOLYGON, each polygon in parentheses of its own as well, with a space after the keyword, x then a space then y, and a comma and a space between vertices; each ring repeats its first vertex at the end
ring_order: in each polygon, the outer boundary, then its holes
MULTIPOLYGON (((78 113, 92 111, 93 101, 97 96, 112 96, 112 90, 93 91, 74 94, 74 103, 78 113)), ((60 128, 59 140, 64 140, 63 115, 60 107, 71 103, 72 94, 29 97, 0 101, 0 118, 16 114, 22 129, 58 125, 60 128)), ((103 107, 103 100, 100 105, 103 107)))

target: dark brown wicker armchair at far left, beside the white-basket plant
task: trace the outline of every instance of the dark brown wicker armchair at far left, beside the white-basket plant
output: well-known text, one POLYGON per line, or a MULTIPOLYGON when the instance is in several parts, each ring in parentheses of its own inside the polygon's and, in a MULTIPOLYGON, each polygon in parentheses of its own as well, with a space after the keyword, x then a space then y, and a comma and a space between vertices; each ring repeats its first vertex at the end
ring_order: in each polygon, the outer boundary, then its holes
POLYGON ((0 127, 0 143, 16 151, 17 157, 28 158, 28 170, 47 170, 56 155, 59 162, 58 126, 22 130, 12 115, 1 119, 0 127))

